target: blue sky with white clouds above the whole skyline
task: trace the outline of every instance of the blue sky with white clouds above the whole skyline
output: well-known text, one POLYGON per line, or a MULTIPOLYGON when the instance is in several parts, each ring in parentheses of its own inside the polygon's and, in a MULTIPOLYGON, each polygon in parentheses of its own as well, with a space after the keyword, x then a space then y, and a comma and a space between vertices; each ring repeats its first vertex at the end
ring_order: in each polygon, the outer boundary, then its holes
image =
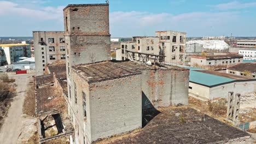
MULTIPOLYGON (((0 0, 0 37, 63 31, 68 4, 105 0, 0 0)), ((188 37, 256 36, 255 0, 109 0, 112 37, 182 31, 188 37)))

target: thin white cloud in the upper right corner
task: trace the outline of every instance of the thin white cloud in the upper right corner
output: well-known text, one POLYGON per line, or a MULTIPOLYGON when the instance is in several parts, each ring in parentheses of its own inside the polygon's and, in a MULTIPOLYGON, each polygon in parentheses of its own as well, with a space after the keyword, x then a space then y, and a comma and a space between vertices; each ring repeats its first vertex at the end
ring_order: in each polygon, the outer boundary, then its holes
POLYGON ((213 8, 219 10, 231 10, 231 9, 245 9, 250 7, 256 7, 256 2, 251 3, 241 3, 241 2, 230 2, 230 3, 222 3, 217 5, 212 5, 213 8))

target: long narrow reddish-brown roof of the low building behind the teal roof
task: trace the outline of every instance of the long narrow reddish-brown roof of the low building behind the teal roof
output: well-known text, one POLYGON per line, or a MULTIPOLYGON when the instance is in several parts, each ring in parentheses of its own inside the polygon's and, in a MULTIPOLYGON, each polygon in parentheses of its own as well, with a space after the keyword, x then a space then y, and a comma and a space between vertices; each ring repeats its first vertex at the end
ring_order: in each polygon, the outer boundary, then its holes
POLYGON ((243 58, 243 55, 212 55, 212 56, 193 56, 193 58, 199 58, 199 59, 230 59, 230 58, 243 58))

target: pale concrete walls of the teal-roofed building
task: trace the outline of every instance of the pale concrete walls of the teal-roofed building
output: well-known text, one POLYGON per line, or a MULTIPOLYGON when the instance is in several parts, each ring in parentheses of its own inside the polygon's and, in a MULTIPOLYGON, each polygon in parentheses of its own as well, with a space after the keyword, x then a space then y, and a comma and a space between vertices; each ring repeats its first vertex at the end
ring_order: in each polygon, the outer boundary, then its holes
POLYGON ((256 92, 256 81, 231 82, 212 88, 190 82, 189 86, 192 87, 189 89, 191 96, 194 95, 204 100, 228 98, 229 92, 240 93, 242 96, 256 92))

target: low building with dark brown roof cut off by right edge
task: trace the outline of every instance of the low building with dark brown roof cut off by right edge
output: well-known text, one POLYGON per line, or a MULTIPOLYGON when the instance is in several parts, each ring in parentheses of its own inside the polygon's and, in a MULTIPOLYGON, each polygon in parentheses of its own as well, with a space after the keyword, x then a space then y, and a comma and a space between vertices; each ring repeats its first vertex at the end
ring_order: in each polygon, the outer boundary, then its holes
POLYGON ((256 79, 256 63, 240 63, 226 69, 226 73, 256 79))

